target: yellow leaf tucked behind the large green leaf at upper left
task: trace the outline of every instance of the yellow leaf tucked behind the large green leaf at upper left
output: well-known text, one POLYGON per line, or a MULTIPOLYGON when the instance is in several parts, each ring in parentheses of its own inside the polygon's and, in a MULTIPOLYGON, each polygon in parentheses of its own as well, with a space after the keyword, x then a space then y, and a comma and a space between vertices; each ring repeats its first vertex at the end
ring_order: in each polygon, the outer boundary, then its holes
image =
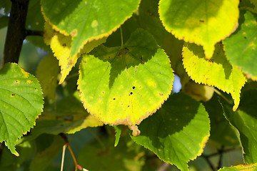
POLYGON ((59 60, 59 66, 61 66, 61 79, 59 84, 61 84, 64 82, 66 76, 69 75, 71 68, 75 66, 76 61, 81 54, 89 53, 93 48, 104 43, 106 41, 106 37, 86 43, 80 53, 70 56, 71 36, 64 36, 63 34, 54 31, 51 26, 46 23, 44 41, 47 45, 50 45, 51 50, 54 52, 54 56, 59 60))

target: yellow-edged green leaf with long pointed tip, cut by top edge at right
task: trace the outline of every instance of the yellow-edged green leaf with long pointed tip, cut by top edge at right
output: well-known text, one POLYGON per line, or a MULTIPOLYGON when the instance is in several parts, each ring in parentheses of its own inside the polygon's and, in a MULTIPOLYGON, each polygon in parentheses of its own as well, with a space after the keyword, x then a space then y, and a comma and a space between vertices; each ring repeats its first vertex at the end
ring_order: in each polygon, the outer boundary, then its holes
POLYGON ((215 44, 238 26, 238 3, 238 0, 161 0, 159 14, 167 31, 178 39, 203 46, 206 58, 211 58, 215 44))

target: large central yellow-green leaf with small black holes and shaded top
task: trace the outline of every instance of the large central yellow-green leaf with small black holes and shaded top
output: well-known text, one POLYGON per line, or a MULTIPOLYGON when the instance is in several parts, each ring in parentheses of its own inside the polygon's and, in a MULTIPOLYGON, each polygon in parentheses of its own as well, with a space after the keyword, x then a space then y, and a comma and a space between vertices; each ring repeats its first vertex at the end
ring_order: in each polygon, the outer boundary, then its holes
POLYGON ((173 71, 153 36, 138 29, 123 47, 99 46, 81 61, 78 88, 89 113, 111 125, 136 125, 168 98, 173 71))

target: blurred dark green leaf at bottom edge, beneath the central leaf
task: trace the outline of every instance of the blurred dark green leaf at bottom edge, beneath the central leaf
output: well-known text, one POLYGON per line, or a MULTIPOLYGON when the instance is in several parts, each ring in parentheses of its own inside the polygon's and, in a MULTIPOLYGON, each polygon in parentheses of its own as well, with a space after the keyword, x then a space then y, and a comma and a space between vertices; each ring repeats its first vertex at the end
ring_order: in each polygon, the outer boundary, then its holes
POLYGON ((121 138, 119 145, 114 147, 113 138, 101 138, 86 145, 79 152, 78 163, 87 170, 124 170, 140 171, 144 164, 143 150, 136 150, 135 143, 121 138), (102 146, 104 145, 104 147, 102 146))

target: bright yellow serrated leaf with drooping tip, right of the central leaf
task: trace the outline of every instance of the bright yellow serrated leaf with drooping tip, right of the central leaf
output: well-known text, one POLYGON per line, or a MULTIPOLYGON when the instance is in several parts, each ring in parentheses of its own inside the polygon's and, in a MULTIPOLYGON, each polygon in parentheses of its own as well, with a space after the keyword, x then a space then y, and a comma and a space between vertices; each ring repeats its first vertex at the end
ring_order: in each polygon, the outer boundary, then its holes
POLYGON ((238 108, 241 88, 246 83, 246 78, 240 69, 231 66, 227 61, 221 43, 216 44, 211 60, 204 58, 201 46, 191 43, 184 44, 182 55, 183 66, 193 81, 231 93, 234 100, 233 110, 238 108))

